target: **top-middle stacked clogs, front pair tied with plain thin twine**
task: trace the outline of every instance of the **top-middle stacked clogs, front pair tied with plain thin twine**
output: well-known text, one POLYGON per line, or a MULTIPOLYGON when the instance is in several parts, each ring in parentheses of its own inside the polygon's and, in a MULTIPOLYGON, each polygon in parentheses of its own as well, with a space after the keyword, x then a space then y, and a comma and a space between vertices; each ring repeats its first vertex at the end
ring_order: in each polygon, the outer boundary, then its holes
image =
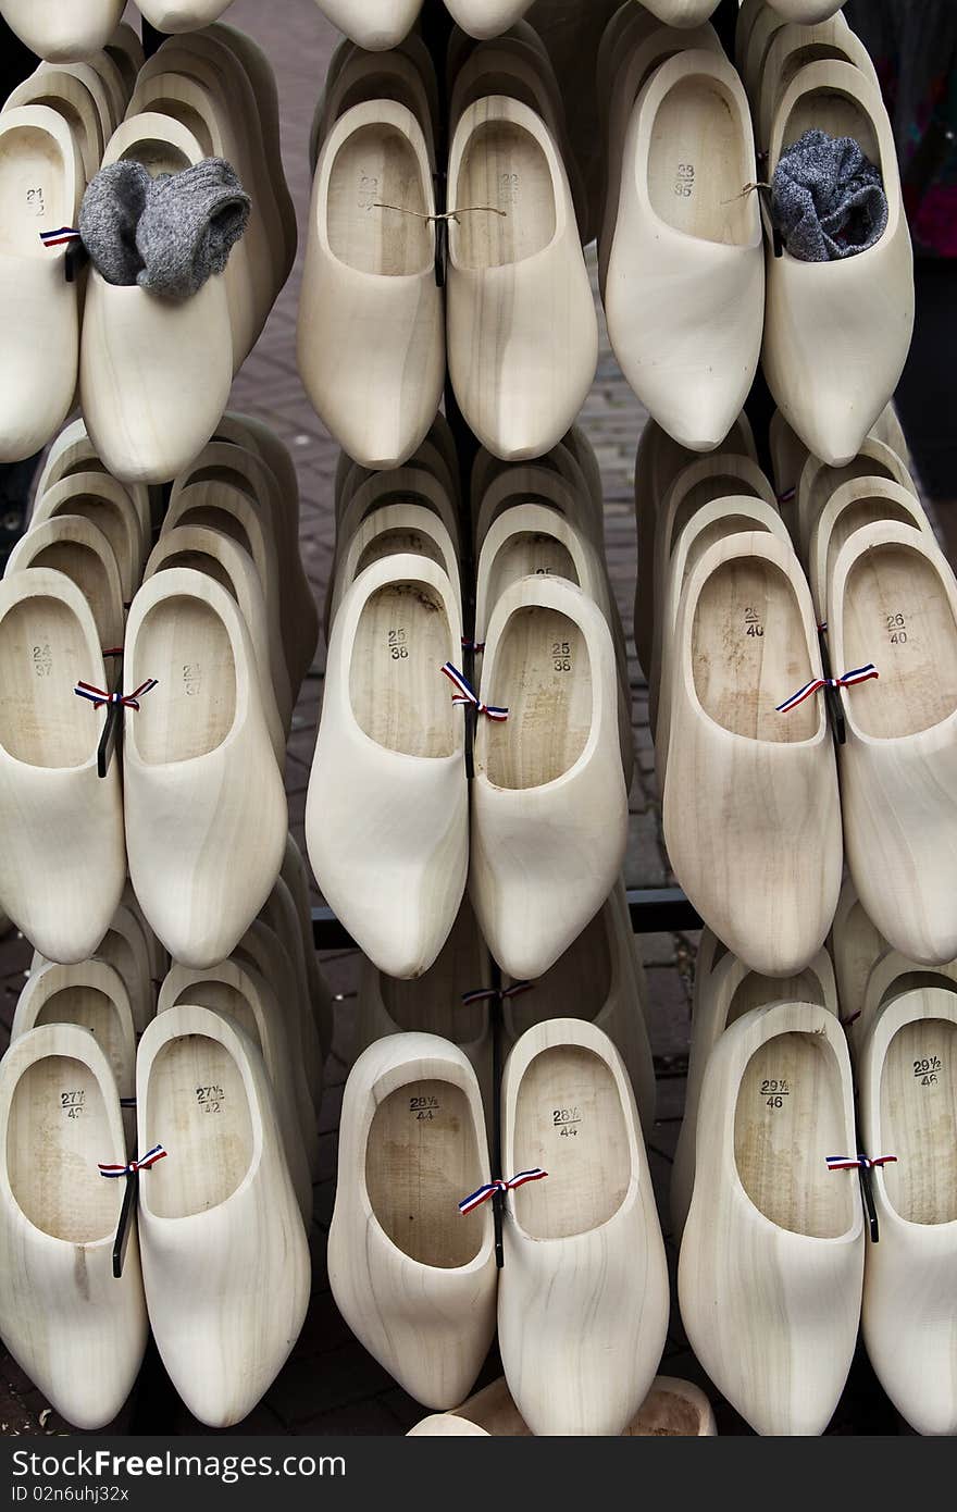
POLYGON ((364 467, 414 454, 438 408, 446 352, 482 445, 505 460, 540 457, 573 423, 597 361, 555 76, 541 44, 523 38, 461 62, 449 215, 437 219, 434 70, 411 41, 333 60, 316 125, 299 372, 364 467))

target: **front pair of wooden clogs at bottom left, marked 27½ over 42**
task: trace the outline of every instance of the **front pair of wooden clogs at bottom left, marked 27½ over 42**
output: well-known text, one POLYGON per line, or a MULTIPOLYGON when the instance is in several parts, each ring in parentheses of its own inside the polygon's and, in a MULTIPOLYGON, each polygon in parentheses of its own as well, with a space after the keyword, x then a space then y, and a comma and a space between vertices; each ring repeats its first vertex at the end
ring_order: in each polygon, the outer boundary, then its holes
POLYGON ((0 1335, 77 1427, 122 1406, 153 1331, 190 1412, 243 1418, 305 1317, 310 1259, 275 1093, 239 1024, 181 1002, 136 1054, 138 1157, 97 1037, 42 1024, 0 1063, 0 1335), (139 1185, 119 1278, 127 1182, 139 1185))

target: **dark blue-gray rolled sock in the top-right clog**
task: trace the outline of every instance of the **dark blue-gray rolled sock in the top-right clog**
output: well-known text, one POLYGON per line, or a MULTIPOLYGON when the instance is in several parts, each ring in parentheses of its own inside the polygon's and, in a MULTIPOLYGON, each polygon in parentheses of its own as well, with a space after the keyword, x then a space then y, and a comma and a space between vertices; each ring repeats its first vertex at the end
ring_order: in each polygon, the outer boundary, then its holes
POLYGON ((856 257, 878 242, 887 225, 880 169, 851 136, 804 132, 774 169, 771 218, 791 256, 801 262, 856 257))

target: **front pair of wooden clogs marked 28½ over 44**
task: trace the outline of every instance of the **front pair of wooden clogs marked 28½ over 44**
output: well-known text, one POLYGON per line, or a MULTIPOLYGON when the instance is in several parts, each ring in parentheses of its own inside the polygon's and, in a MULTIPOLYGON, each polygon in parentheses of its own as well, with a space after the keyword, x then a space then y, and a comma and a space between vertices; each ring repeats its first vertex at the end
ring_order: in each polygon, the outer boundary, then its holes
POLYGON ((553 1019, 502 1083, 491 1181, 470 1061, 431 1034, 378 1040, 346 1083, 330 1284, 354 1334, 425 1406, 469 1393, 497 1332, 534 1433, 621 1433, 668 1320, 664 1243, 635 1099, 594 1025, 553 1019), (503 1191, 503 1270, 491 1194, 503 1191))

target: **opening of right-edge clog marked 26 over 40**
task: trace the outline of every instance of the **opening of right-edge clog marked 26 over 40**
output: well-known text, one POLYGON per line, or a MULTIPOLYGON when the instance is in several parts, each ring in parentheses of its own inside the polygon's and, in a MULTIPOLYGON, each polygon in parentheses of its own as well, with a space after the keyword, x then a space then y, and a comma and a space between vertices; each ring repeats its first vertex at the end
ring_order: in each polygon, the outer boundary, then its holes
POLYGON ((918 735, 957 709, 957 623, 943 573, 921 552, 884 541, 853 562, 844 662, 880 673, 844 691, 854 724, 875 739, 918 735))

